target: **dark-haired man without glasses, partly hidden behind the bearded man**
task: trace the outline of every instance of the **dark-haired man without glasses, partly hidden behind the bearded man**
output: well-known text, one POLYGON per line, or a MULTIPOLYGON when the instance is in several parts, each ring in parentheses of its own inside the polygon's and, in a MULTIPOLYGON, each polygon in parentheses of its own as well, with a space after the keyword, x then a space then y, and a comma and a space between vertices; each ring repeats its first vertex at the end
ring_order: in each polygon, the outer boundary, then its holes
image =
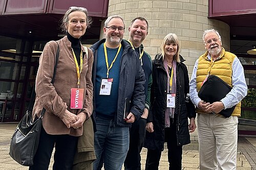
POLYGON ((124 161, 125 170, 140 170, 141 157, 140 152, 145 139, 146 133, 146 119, 148 110, 150 110, 150 91, 152 85, 152 61, 150 55, 144 52, 142 42, 145 39, 148 31, 148 22, 143 17, 136 17, 132 20, 129 27, 128 42, 139 54, 140 64, 143 68, 146 82, 145 82, 145 108, 140 119, 132 124, 130 130, 130 145, 129 151, 124 161))

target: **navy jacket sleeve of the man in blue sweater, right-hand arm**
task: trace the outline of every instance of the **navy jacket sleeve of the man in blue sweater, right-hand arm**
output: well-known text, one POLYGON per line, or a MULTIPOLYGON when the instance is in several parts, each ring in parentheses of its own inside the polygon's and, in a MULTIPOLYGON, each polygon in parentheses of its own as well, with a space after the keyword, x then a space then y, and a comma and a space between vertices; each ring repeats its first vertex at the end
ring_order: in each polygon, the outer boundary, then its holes
MULTIPOLYGON (((133 52, 136 53, 135 51, 133 52)), ((135 55, 137 55, 137 53, 135 55)), ((136 61, 136 77, 133 91, 132 108, 130 112, 132 112, 135 115, 136 120, 139 120, 145 108, 145 75, 140 65, 138 57, 137 60, 138 61, 136 61)))

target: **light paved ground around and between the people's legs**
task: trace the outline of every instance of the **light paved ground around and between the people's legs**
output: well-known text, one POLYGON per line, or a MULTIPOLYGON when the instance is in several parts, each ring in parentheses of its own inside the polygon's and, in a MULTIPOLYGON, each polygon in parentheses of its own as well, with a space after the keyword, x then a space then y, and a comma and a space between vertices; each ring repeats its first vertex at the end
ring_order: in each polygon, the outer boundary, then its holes
MULTIPOLYGON (((17 124, 0 124, 0 169, 2 170, 25 170, 27 166, 22 166, 16 163, 9 156, 10 138, 14 132, 17 124)), ((182 170, 199 169, 199 153, 197 132, 191 134, 191 143, 183 146, 182 155, 182 170)), ((144 170, 146 160, 146 149, 143 148, 141 152, 141 169, 144 170)), ((52 169, 53 159, 49 169, 52 169)), ((103 169, 103 168, 102 168, 103 169)), ((167 149, 162 152, 160 170, 168 169, 167 149)), ((238 170, 256 170, 256 137, 239 136, 238 137, 238 156, 237 156, 238 170)))

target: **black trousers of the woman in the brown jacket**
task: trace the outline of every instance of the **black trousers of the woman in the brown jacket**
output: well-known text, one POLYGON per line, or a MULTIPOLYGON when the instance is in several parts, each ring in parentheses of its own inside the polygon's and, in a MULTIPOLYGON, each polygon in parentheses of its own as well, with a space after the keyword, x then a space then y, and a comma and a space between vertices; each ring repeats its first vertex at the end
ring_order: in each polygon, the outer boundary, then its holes
POLYGON ((29 170, 48 170, 54 145, 53 170, 72 170, 77 140, 77 136, 49 135, 42 127, 34 164, 29 170))

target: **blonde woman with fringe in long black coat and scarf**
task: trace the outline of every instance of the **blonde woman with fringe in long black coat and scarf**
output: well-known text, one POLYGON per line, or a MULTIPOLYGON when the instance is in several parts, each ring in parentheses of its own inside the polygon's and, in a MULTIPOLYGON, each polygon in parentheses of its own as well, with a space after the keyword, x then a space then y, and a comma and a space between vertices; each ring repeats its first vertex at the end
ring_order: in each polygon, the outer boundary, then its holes
POLYGON ((170 33, 163 39, 161 54, 152 61, 151 107, 144 144, 146 170, 158 169, 164 142, 167 142, 169 169, 181 169, 182 145, 190 143, 189 132, 196 129, 196 110, 187 99, 187 67, 179 51, 178 37, 170 33))

